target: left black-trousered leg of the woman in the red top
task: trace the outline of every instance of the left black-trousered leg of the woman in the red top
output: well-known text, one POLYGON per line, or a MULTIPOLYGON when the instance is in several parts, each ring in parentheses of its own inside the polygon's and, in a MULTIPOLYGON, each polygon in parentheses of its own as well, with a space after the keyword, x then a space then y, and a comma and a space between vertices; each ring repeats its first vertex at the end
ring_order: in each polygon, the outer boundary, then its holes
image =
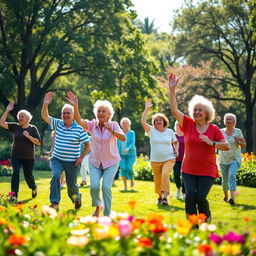
POLYGON ((186 188, 185 211, 186 215, 197 214, 196 207, 196 187, 197 176, 187 173, 182 173, 186 188))

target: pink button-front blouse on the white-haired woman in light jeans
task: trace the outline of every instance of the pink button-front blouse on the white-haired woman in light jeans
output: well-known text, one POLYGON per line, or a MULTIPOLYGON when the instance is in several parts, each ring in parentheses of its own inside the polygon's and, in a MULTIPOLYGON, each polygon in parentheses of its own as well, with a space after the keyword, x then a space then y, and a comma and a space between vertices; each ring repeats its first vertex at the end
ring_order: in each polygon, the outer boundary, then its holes
MULTIPOLYGON (((116 132, 122 132, 119 124, 111 121, 112 129, 116 132)), ((105 127, 102 130, 99 127, 99 121, 93 119, 87 121, 87 132, 91 134, 91 153, 89 162, 99 168, 102 164, 103 169, 118 163, 121 158, 117 148, 117 138, 105 127)))

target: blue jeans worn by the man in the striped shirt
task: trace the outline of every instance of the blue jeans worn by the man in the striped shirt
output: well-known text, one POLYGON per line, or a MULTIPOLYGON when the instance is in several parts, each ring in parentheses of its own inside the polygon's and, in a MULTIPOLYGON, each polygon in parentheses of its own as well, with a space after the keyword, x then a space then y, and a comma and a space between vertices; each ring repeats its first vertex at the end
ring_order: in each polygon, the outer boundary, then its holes
POLYGON ((51 159, 52 179, 50 188, 50 202, 60 202, 60 176, 65 170, 66 183, 68 188, 68 196, 74 203, 81 198, 77 185, 77 175, 79 166, 75 166, 75 162, 61 161, 55 157, 51 159))

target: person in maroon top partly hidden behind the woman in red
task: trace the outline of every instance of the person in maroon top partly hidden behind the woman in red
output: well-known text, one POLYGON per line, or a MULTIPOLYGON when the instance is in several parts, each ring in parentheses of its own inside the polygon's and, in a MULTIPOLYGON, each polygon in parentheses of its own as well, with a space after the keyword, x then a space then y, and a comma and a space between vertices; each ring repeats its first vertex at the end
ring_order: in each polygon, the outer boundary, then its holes
POLYGON ((179 150, 176 156, 176 162, 175 162, 175 165, 173 166, 174 181, 177 187, 176 198, 179 199, 182 195, 182 198, 185 199, 186 190, 185 190, 183 179, 181 177, 181 164, 182 164, 182 160, 184 157, 184 150, 185 150, 184 133, 181 131, 177 121, 175 121, 174 123, 174 131, 175 131, 175 136, 179 143, 179 150))

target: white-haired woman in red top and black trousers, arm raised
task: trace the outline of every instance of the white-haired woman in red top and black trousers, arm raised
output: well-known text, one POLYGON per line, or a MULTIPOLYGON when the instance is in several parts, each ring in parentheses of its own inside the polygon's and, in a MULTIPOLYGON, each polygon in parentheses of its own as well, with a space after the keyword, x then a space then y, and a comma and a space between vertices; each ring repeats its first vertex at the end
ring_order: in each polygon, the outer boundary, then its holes
POLYGON ((185 155, 182 177, 186 188, 185 210, 187 215, 204 213, 211 221, 206 199, 215 178, 218 177, 215 149, 228 150, 229 146, 220 129, 211 124, 215 117, 212 103, 203 96, 195 95, 189 102, 189 115, 177 106, 176 86, 178 79, 169 76, 170 107, 174 118, 185 136, 185 155))

